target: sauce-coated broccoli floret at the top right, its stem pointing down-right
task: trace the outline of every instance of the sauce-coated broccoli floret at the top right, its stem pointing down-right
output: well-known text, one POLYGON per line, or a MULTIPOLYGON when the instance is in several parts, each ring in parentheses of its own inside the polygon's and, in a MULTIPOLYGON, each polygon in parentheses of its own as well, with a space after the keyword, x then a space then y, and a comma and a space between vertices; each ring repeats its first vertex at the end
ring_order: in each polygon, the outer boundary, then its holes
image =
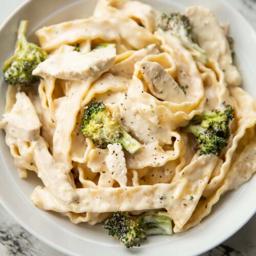
POLYGON ((160 16, 158 27, 176 36, 195 60, 202 63, 208 62, 206 51, 193 40, 192 28, 187 16, 180 13, 170 13, 169 15, 163 13, 160 16))

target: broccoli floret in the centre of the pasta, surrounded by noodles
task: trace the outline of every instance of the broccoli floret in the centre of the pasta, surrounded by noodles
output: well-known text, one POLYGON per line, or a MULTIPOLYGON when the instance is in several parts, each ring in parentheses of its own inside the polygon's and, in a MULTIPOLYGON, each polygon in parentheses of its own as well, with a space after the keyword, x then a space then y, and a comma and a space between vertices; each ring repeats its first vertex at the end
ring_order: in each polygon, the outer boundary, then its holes
POLYGON ((131 154, 141 148, 141 144, 111 117, 103 102, 94 101, 84 109, 81 132, 99 148, 106 148, 109 143, 120 143, 131 154))

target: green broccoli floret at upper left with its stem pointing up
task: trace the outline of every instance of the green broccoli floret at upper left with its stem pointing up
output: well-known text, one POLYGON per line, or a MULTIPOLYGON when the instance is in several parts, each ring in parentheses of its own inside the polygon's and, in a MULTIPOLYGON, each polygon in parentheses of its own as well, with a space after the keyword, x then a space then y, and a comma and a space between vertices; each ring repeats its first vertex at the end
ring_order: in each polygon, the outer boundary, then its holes
POLYGON ((39 76, 33 76, 32 71, 47 58, 45 50, 27 41, 27 26, 27 20, 19 23, 14 55, 5 61, 3 67, 5 81, 13 85, 28 86, 38 81, 39 76))

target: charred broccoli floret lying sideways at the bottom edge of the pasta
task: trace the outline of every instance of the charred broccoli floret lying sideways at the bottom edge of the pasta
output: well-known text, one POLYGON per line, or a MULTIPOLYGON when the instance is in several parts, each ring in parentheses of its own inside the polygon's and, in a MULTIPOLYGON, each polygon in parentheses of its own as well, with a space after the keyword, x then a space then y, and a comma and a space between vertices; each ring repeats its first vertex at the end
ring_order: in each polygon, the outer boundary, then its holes
POLYGON ((146 240, 151 234, 172 234, 172 220, 166 212, 147 213, 140 216, 130 216, 126 212, 114 212, 106 219, 103 228, 109 230, 109 235, 118 239, 126 248, 140 246, 140 240, 146 240))

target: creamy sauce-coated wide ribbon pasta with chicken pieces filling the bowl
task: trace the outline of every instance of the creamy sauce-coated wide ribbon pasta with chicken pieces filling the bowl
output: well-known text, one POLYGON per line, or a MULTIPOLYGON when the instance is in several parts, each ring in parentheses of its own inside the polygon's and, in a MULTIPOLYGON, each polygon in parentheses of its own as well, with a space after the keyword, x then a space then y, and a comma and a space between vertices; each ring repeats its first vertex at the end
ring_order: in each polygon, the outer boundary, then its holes
POLYGON ((33 70, 40 82, 8 86, 0 127, 20 178, 33 170, 44 183, 31 195, 39 208, 91 225, 115 211, 164 209, 180 232, 255 173, 256 101, 239 87, 223 27, 206 8, 186 10, 203 63, 156 26, 159 15, 137 1, 99 0, 89 18, 36 31, 49 53, 33 70), (138 151, 98 148, 83 136, 93 101, 139 141, 138 151), (181 127, 223 102, 234 109, 227 145, 202 155, 181 127))

